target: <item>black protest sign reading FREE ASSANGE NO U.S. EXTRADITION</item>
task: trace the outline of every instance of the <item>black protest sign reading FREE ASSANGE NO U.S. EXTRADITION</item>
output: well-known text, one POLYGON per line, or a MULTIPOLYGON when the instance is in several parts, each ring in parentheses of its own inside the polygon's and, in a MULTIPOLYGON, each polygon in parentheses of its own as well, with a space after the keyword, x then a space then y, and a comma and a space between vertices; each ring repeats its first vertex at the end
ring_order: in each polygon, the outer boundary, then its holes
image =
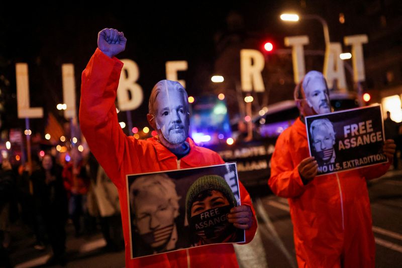
POLYGON ((310 155, 318 175, 387 162, 382 154, 384 127, 381 106, 306 117, 310 155))

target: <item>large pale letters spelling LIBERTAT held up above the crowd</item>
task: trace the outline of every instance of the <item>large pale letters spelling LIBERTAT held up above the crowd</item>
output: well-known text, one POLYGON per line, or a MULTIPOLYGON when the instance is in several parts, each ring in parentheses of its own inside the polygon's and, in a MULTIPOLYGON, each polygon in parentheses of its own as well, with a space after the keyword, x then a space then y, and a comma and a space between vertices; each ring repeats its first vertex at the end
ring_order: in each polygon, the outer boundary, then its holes
MULTIPOLYGON (((285 38, 285 45, 292 47, 292 63, 294 82, 298 83, 306 72, 303 46, 309 44, 308 36, 292 36, 285 38)), ((367 43, 367 35, 353 35, 344 38, 345 45, 352 46, 353 81, 365 80, 363 44, 367 43)), ((327 78, 329 88, 333 87, 334 80, 340 90, 346 90, 346 78, 343 61, 339 58, 342 52, 340 43, 331 43, 325 53, 324 75, 327 78)), ((137 83, 140 76, 138 65, 130 59, 123 59, 124 67, 120 76, 119 88, 117 90, 118 106, 122 111, 134 110, 143 102, 143 90, 137 83)), ((264 55, 254 49, 242 49, 240 51, 240 71, 242 90, 250 92, 265 91, 262 79, 264 69, 264 55)), ((184 80, 177 80, 177 72, 185 71, 188 68, 187 61, 167 61, 166 79, 178 81, 185 87, 184 80)), ((41 118, 43 117, 42 107, 30 107, 29 100, 29 78, 27 63, 16 64, 17 81, 17 108, 19 118, 41 118)), ((63 100, 67 105, 64 111, 65 118, 76 116, 75 106, 75 78, 74 65, 62 65, 63 100)))

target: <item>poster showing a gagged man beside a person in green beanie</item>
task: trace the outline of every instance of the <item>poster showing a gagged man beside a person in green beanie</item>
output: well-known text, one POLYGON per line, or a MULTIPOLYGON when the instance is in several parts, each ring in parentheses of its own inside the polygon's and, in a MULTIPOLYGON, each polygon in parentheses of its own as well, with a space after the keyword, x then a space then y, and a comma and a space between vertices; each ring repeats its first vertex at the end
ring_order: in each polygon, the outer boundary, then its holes
POLYGON ((229 223, 241 205, 236 163, 127 175, 131 257, 245 242, 229 223))

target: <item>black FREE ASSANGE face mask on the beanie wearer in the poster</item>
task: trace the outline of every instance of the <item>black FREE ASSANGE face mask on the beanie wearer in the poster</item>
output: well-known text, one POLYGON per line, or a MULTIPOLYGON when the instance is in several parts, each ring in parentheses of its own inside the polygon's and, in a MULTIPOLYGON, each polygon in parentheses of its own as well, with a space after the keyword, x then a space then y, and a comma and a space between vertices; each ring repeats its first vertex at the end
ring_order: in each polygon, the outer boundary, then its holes
MULTIPOLYGON (((199 237, 209 240, 225 238, 232 233, 233 225, 228 222, 227 215, 230 212, 231 206, 222 206, 213 208, 199 213, 190 218, 190 227, 199 237), (213 213, 212 213, 213 212, 213 213), (205 217, 205 215, 211 215, 205 217)), ((220 242, 220 241, 215 241, 220 242)))

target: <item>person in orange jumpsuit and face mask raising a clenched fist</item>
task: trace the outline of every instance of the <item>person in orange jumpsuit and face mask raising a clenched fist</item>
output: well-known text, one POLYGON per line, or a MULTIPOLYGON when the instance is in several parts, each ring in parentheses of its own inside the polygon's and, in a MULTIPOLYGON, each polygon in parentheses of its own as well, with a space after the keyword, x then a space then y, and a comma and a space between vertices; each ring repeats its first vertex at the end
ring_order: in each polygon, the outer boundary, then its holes
MULTIPOLYGON (((187 138, 187 93, 178 83, 158 82, 153 88, 147 119, 158 136, 148 140, 127 137, 119 125, 116 90, 123 63, 114 56, 124 51, 122 32, 104 29, 98 48, 82 73, 80 125, 93 155, 119 191, 127 267, 237 267, 232 244, 216 244, 131 259, 126 175, 224 163, 215 152, 187 138)), ((229 221, 245 229, 246 242, 257 223, 251 199, 240 183, 241 206, 231 209, 229 221)))

